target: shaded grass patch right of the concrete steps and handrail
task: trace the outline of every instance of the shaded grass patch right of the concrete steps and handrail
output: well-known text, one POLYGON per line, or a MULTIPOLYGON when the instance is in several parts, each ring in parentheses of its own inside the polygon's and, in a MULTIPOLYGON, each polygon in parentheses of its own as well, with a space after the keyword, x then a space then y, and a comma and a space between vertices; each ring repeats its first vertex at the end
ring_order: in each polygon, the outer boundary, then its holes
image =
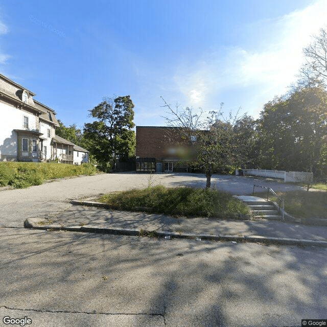
MULTIPOLYGON (((276 192, 284 199, 285 211, 296 218, 327 218, 327 192, 323 191, 288 191, 276 192)), ((265 198, 265 193, 254 196, 265 198)), ((278 200, 269 197, 278 203, 278 200)))

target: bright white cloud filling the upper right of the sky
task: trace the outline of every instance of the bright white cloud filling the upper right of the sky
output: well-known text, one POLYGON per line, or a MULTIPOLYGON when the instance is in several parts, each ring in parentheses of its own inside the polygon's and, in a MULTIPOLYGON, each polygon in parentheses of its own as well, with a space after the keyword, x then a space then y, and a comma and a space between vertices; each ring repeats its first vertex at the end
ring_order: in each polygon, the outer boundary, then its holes
MULTIPOLYGON (((185 105, 213 107, 213 99, 230 88, 235 89, 237 97, 238 88, 252 87, 255 94, 248 95, 248 104, 255 102, 261 107, 275 95, 284 94, 296 81, 304 60, 303 47, 325 27, 326 16, 327 2, 320 0, 303 10, 245 27, 249 38, 259 40, 258 49, 234 46, 224 49, 223 56, 222 49, 217 49, 195 64, 184 62, 173 80, 185 105)), ((246 107, 244 103, 239 105, 246 107)))

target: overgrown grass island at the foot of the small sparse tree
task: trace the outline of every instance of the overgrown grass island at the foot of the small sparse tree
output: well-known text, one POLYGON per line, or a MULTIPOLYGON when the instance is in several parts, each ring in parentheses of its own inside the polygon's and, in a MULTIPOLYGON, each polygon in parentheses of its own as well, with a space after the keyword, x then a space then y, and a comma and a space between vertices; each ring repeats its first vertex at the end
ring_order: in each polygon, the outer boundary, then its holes
POLYGON ((249 215, 248 207, 230 194, 211 189, 165 188, 150 186, 142 190, 130 190, 105 194, 99 202, 107 203, 118 210, 151 212, 175 217, 238 218, 249 215))

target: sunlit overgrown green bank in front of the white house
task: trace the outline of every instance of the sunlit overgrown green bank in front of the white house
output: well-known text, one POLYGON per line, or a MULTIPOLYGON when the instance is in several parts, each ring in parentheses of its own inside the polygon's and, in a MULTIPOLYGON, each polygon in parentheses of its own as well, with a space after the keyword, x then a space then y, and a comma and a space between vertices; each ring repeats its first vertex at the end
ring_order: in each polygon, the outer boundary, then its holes
POLYGON ((93 175, 96 172, 96 167, 91 164, 76 166, 50 162, 0 162, 0 186, 11 185, 15 189, 22 189, 40 185, 46 179, 93 175))

